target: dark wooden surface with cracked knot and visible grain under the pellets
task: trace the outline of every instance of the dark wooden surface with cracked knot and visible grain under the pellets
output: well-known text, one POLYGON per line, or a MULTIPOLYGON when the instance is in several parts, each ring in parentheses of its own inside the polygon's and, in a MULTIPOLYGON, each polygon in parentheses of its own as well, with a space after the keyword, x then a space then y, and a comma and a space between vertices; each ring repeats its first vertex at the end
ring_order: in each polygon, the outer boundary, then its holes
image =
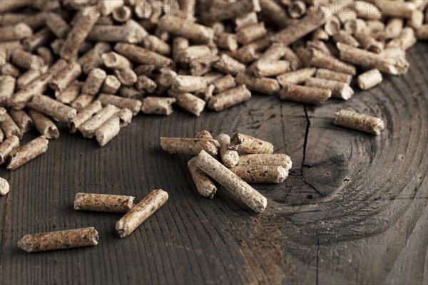
MULTIPOLYGON (((61 130, 49 150, 0 175, 0 284, 428 284, 428 48, 418 43, 402 77, 317 108, 252 100, 194 118, 138 115, 106 147, 61 130), (332 125, 340 108, 380 115, 375 137, 332 125), (189 157, 169 155, 160 136, 240 131, 292 157, 290 177, 255 185, 263 214, 223 190, 198 195, 189 157), (118 214, 73 210, 76 192, 133 195, 154 188, 168 202, 130 237, 118 214), (96 247, 27 254, 27 233, 96 227, 96 247)), ((32 133, 33 136, 36 133, 32 133)), ((28 136, 28 135, 27 135, 28 136)), ((29 139, 29 138, 28 138, 29 139)))

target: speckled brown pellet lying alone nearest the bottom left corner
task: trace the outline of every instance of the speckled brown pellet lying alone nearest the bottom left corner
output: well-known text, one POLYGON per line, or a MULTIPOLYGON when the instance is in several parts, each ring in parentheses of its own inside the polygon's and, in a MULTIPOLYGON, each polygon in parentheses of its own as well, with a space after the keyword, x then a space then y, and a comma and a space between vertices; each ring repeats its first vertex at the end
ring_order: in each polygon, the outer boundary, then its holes
POLYGON ((89 247, 97 244, 98 232, 93 227, 86 227, 41 234, 26 234, 19 240, 18 247, 26 252, 46 252, 56 249, 89 247))

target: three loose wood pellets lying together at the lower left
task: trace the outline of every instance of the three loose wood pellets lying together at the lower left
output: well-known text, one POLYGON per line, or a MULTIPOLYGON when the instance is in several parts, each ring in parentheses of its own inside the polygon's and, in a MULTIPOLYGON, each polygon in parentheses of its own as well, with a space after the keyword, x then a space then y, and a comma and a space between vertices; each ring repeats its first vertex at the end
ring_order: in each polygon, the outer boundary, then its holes
MULTIPOLYGON (((126 213, 116 222, 119 237, 128 237, 148 217, 156 212, 168 199, 162 189, 151 191, 138 204, 133 204, 133 196, 77 193, 74 209, 82 211, 126 213)), ((67 229, 56 232, 26 234, 18 242, 18 247, 26 252, 46 252, 56 249, 88 247, 98 244, 98 232, 93 227, 67 229)))

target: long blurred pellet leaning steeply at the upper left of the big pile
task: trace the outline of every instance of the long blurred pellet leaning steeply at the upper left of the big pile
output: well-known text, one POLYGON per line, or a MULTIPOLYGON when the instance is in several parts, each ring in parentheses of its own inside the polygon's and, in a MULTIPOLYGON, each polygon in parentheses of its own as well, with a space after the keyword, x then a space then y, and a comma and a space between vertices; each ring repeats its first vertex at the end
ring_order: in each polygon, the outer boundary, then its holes
POLYGON ((99 16, 100 13, 98 6, 87 7, 76 16, 76 22, 73 24, 73 28, 71 28, 66 41, 61 47, 61 58, 71 59, 76 56, 78 48, 81 43, 85 41, 86 36, 88 36, 88 33, 92 30, 96 21, 98 21, 99 16))

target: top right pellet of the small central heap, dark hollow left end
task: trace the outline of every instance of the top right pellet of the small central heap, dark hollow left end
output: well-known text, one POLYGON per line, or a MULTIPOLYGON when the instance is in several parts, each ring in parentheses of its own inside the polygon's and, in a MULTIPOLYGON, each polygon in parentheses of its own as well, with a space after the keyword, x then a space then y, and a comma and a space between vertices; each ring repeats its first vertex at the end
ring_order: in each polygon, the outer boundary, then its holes
POLYGON ((272 153, 273 145, 250 135, 234 133, 230 138, 229 149, 245 153, 272 153))

